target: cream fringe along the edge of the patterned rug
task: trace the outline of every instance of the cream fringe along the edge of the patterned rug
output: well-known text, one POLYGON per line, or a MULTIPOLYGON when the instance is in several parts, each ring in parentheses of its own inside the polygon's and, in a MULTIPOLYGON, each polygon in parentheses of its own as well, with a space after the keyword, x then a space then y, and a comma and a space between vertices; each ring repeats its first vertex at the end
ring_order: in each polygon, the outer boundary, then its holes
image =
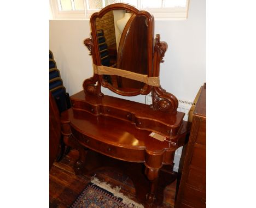
POLYGON ((138 204, 130 198, 126 197, 123 193, 120 193, 121 187, 116 186, 115 188, 112 188, 106 181, 100 181, 95 176, 96 174, 92 176, 91 183, 94 183, 95 185, 113 193, 115 197, 122 198, 123 203, 127 204, 130 208, 144 208, 142 204, 138 204))

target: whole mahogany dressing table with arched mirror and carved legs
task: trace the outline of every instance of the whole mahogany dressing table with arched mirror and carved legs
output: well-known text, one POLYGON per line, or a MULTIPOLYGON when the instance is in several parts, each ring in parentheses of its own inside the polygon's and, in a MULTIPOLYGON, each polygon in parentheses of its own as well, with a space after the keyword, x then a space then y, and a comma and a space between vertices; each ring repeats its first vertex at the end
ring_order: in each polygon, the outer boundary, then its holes
POLYGON ((79 151, 75 173, 84 170, 89 149, 124 163, 135 162, 134 166, 144 164, 144 178, 147 177, 149 187, 144 192, 136 189, 136 195, 144 205, 155 206, 162 201, 156 194, 160 170, 173 163, 175 150, 184 145, 190 131, 189 124, 183 121, 184 113, 177 112, 178 100, 160 86, 160 62, 167 44, 160 41, 160 35, 154 40, 154 17, 129 4, 109 5, 93 14, 90 21, 91 38, 84 43, 92 55, 94 76, 85 79, 84 90, 71 96, 72 108, 61 115, 64 141, 79 151), (120 39, 115 35, 113 43, 118 45, 117 64, 110 67, 103 62, 108 58, 107 50, 102 50, 109 34, 105 30, 99 36, 97 31, 102 29, 101 21, 112 22, 117 30, 115 21, 127 12, 132 15, 120 39), (108 79, 104 79, 106 75, 108 79), (101 87, 124 96, 152 93, 153 104, 103 95, 101 87))

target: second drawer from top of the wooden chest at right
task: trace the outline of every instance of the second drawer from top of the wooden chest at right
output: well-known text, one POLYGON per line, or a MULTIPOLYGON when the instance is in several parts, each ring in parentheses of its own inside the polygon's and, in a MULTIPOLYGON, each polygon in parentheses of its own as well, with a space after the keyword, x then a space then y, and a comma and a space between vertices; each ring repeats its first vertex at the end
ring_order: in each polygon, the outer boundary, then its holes
POLYGON ((191 165, 202 168, 206 170, 206 148, 201 148, 199 146, 194 146, 193 154, 191 158, 191 165))

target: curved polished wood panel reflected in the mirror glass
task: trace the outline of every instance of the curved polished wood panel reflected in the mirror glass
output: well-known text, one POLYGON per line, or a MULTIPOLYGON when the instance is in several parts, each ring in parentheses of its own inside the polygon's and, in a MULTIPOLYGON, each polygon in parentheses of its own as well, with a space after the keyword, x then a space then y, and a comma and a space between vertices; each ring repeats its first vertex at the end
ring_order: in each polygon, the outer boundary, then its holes
MULTIPOLYGON (((138 74, 148 75, 148 27, 145 16, 132 15, 126 23, 121 35, 117 68, 138 74), (139 26, 139 27, 138 27, 139 26)), ((149 74, 150 76, 150 74, 149 74)), ((140 90, 144 87, 143 82, 138 82, 129 78, 118 77, 119 89, 135 88, 140 90)))

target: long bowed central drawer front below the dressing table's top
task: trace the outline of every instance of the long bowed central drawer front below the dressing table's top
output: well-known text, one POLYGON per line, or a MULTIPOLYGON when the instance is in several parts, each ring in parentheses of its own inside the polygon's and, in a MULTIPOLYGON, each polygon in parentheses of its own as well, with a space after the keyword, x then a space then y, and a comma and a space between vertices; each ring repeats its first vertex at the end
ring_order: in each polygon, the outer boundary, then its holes
POLYGON ((112 144, 90 138, 74 129, 72 129, 72 134, 80 144, 101 154, 125 161, 144 162, 144 149, 126 149, 121 146, 114 146, 112 144))

